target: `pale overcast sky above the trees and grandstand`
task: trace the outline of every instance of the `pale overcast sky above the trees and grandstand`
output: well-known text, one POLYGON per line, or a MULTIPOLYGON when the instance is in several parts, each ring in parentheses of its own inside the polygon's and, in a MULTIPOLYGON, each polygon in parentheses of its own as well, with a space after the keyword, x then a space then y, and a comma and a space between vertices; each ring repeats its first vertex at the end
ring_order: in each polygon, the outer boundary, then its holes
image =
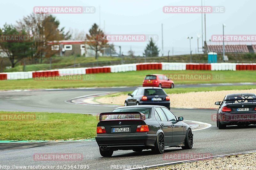
MULTIPOLYGON (((175 54, 189 53, 189 40, 193 53, 197 47, 197 33, 202 34, 201 14, 166 14, 163 6, 201 5, 201 0, 8 0, 0 1, 0 27, 4 23, 15 24, 33 12, 34 6, 95 6, 93 14, 53 14, 60 20, 66 31, 70 28, 84 30, 86 33, 93 23, 104 27, 107 34, 157 34, 158 47, 162 49, 161 24, 164 25, 164 54, 174 48, 175 54), (100 6, 100 15, 99 15, 100 6), (101 22, 100 17, 101 16, 101 22)), ((224 6, 224 13, 206 14, 207 41, 212 34, 222 34, 222 23, 226 24, 225 34, 256 34, 256 1, 249 0, 205 0, 206 6, 224 6)), ((121 45, 124 54, 132 47, 136 54, 142 55, 147 42, 114 42, 121 45)), ((199 39, 202 46, 202 40, 199 39)))

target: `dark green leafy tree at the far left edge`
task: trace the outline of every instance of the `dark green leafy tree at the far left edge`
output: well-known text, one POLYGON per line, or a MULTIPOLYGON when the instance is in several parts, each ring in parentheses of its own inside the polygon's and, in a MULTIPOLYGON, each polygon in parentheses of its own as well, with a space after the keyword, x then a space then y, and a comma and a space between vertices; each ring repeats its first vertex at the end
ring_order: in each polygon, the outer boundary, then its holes
MULTIPOLYGON (((1 29, 0 29, 1 30, 1 29)), ((25 30, 18 31, 14 26, 5 24, 3 30, 0 31, 1 42, 0 48, 6 53, 10 62, 12 63, 12 68, 20 62, 23 58, 33 55, 34 51, 31 48, 33 41, 30 40, 11 40, 6 39, 6 37, 17 37, 24 38, 29 35, 25 30)))

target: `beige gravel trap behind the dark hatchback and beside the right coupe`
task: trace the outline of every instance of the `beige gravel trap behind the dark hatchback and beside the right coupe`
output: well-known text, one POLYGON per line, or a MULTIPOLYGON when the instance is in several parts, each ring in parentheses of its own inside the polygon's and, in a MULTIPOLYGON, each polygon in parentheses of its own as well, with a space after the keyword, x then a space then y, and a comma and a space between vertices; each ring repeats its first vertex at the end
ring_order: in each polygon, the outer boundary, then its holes
MULTIPOLYGON (((171 107, 176 108, 218 108, 214 105, 216 101, 222 101, 226 94, 229 93, 256 93, 256 89, 251 90, 222 90, 211 92, 188 92, 168 94, 171 99, 171 107)), ((127 95, 115 97, 102 97, 97 102, 124 105, 127 95)))

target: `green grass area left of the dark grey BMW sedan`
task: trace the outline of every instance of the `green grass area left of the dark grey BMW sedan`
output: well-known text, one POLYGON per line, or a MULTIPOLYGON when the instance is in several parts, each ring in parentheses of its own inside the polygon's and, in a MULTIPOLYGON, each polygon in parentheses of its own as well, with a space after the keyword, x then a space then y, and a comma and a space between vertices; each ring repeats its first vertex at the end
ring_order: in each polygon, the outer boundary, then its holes
MULTIPOLYGON (((95 115, 0 111, 0 140, 86 139, 96 136, 95 115), (36 119, 6 121, 7 114, 35 115, 36 119)), ((10 120, 10 119, 9 119, 10 120)))

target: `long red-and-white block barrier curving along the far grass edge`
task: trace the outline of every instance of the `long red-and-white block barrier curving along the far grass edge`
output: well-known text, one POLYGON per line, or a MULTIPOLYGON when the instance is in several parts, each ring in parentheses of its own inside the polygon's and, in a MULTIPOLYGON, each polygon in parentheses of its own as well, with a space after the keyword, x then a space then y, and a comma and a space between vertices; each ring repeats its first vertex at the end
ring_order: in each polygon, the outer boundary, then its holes
POLYGON ((256 63, 132 63, 102 67, 67 68, 27 72, 0 73, 0 80, 55 77, 137 70, 256 70, 256 63))

